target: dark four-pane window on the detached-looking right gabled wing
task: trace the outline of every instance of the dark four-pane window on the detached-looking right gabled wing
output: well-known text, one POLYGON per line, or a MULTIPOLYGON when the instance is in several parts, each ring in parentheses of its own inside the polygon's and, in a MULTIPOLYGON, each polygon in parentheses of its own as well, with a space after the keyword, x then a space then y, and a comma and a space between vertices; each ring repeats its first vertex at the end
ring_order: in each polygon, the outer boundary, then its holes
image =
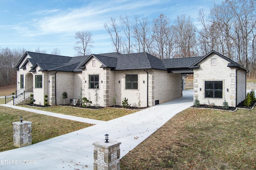
POLYGON ((222 81, 205 81, 205 98, 222 98, 222 81))

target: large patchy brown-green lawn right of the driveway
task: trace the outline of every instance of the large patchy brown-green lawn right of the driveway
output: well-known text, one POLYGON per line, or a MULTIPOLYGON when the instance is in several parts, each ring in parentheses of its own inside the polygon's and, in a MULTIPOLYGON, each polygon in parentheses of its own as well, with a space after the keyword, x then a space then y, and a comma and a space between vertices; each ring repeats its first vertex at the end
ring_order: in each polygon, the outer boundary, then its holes
POLYGON ((121 159, 128 169, 256 169, 255 110, 186 109, 121 159))

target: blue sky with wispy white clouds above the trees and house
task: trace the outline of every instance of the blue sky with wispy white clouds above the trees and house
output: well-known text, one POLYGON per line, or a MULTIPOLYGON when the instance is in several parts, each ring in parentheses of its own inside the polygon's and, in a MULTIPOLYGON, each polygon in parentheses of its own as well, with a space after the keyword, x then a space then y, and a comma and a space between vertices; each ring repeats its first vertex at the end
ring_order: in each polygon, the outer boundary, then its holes
POLYGON ((47 53, 58 48, 60 55, 74 56, 75 33, 85 30, 92 33, 92 53, 109 53, 112 44, 104 23, 110 17, 152 20, 164 14, 173 22, 186 14, 197 25, 198 11, 203 8, 207 13, 211 7, 212 0, 0 0, 0 47, 40 47, 47 53))

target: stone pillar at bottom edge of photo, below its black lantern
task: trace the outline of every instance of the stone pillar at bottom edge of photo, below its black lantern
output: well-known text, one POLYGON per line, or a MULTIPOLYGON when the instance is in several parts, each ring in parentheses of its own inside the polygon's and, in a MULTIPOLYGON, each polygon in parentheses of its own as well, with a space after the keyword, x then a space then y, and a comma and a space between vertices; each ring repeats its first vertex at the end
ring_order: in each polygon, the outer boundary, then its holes
POLYGON ((100 141, 94 145, 94 170, 120 170, 120 144, 118 141, 105 143, 100 141))

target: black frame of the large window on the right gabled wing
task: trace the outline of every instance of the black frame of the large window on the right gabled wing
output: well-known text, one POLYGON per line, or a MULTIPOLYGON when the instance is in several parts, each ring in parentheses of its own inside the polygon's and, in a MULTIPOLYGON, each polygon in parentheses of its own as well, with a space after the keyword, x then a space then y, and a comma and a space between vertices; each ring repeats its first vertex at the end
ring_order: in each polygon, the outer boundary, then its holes
POLYGON ((204 82, 204 98, 222 99, 223 98, 222 93, 223 93, 223 81, 205 81, 204 82), (221 82, 221 86, 218 85, 218 83, 220 82, 221 82), (212 84, 206 85, 207 83, 212 83, 212 84), (209 86, 209 88, 206 88, 206 86, 209 86), (212 86, 212 88, 210 88, 210 86, 212 86), (221 89, 218 87, 221 87, 221 89), (216 97, 218 94, 221 94, 221 98, 216 97), (209 97, 209 96, 212 96, 212 97, 209 97))

